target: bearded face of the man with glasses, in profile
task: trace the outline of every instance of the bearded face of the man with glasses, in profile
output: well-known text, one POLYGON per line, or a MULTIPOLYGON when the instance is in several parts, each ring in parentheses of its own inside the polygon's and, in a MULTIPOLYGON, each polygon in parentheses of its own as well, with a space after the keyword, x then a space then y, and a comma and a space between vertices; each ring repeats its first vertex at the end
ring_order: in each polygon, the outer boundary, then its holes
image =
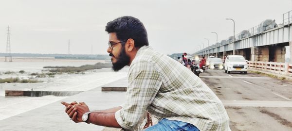
MULTIPOLYGON (((114 44, 121 41, 117 39, 116 33, 110 33, 109 42, 114 44)), ((110 53, 112 69, 114 71, 119 71, 130 62, 130 58, 125 51, 125 43, 126 42, 114 44, 112 45, 113 49, 109 47, 107 50, 110 53)))

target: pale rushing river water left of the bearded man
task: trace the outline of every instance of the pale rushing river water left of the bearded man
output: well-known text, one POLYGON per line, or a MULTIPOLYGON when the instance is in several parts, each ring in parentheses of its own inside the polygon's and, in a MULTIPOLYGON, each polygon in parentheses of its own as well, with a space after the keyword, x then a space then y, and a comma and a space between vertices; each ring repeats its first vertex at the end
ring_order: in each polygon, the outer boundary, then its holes
MULTIPOLYGON (((32 72, 41 72, 43 66, 82 66, 105 62, 98 60, 52 60, 14 59, 14 62, 0 62, 0 72, 24 70, 26 73, 9 74, 2 73, 0 78, 7 77, 28 77, 32 72)), ((86 71, 85 74, 61 74, 54 78, 39 78, 43 82, 37 83, 0 83, 0 120, 24 113, 35 108, 59 101, 67 97, 44 96, 44 97, 4 97, 5 90, 26 90, 34 91, 87 91, 104 84, 117 81, 127 77, 128 68, 119 72, 112 71, 111 68, 103 68, 86 71)))

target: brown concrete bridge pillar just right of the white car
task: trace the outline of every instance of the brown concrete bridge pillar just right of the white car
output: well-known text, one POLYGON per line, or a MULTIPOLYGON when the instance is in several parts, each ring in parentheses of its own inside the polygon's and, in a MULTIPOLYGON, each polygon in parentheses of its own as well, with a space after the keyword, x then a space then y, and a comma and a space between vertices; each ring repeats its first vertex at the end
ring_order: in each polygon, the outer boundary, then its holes
POLYGON ((252 47, 251 49, 252 61, 269 61, 269 48, 268 47, 252 47))

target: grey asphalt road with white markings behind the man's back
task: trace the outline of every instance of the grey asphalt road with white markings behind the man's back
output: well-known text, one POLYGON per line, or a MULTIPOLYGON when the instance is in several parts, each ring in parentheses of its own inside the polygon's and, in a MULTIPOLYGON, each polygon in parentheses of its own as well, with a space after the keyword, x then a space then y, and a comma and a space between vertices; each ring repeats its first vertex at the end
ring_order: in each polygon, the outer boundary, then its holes
POLYGON ((223 102, 232 131, 292 131, 292 82, 207 70, 200 78, 223 102))

